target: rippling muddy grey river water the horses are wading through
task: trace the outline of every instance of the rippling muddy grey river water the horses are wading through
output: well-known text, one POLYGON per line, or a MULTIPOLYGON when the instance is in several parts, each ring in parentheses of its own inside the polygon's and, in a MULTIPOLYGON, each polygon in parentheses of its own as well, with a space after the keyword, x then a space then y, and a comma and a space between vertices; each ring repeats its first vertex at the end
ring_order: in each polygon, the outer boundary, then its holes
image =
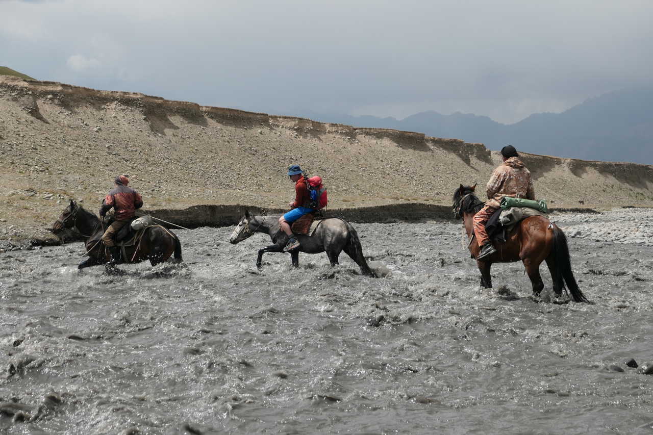
POLYGON ((232 228, 121 275, 77 270, 80 243, 3 253, 0 432, 653 433, 624 364, 653 361, 650 211, 554 219, 594 305, 551 302, 544 266, 543 301, 520 263, 481 290, 449 222, 355 225, 380 279, 345 254, 259 272, 268 239, 232 228))

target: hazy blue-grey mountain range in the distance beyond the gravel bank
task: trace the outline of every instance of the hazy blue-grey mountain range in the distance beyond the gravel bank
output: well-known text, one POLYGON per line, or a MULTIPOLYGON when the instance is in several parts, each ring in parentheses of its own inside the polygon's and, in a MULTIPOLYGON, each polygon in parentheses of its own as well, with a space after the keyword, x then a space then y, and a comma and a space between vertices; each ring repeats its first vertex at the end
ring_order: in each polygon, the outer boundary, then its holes
POLYGON ((421 112, 404 120, 304 112, 316 121, 425 133, 483 142, 490 150, 513 144, 524 152, 584 160, 653 165, 653 88, 622 89, 560 114, 539 113, 505 125, 486 116, 421 112))

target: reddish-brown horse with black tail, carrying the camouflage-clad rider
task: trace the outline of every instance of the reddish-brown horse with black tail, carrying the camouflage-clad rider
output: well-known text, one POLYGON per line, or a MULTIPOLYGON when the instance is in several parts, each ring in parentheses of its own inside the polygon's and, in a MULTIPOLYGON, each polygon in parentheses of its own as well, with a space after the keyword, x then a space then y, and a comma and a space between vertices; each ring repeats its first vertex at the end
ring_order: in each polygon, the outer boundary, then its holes
MULTIPOLYGON (((485 204, 473 194, 475 187, 476 185, 464 186, 461 184, 453 195, 454 216, 457 219, 461 217, 463 219, 473 258, 477 258, 481 250, 476 239, 473 238, 473 217, 485 204)), ((521 260, 533 285, 533 294, 539 296, 544 288, 542 277, 539 274, 539 265, 542 261, 546 261, 553 280, 553 291, 557 296, 562 295, 562 289, 565 289, 566 283, 569 293, 571 293, 571 300, 590 302, 582 294, 571 271, 565 234, 546 217, 526 217, 508 234, 505 243, 495 244, 494 247, 497 251, 490 257, 476 260, 481 271, 482 287, 492 288, 492 278, 490 277, 492 263, 512 263, 521 260)))

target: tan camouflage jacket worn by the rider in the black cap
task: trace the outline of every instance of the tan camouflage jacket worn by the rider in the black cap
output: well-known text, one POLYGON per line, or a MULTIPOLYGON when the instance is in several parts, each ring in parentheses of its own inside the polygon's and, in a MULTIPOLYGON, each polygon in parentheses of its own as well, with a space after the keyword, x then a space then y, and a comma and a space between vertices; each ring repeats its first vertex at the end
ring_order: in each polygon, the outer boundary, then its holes
POLYGON ((492 172, 486 195, 486 204, 494 208, 499 208, 501 197, 535 199, 530 171, 518 157, 510 157, 492 172))

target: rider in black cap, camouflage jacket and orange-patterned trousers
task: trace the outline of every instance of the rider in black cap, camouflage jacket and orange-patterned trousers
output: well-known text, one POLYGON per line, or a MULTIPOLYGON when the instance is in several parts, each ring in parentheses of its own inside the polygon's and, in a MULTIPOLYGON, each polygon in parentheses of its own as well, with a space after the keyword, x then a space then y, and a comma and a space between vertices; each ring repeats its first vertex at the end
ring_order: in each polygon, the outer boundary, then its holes
POLYGON ((535 189, 531 180, 530 171, 526 169, 524 162, 519 159, 519 154, 512 145, 504 146, 501 149, 503 163, 492 172, 490 181, 486 186, 488 201, 485 206, 474 215, 473 226, 476 240, 481 247, 481 252, 476 258, 484 259, 496 252, 492 245, 485 224, 492 217, 492 214, 499 209, 502 197, 535 199, 535 189))

